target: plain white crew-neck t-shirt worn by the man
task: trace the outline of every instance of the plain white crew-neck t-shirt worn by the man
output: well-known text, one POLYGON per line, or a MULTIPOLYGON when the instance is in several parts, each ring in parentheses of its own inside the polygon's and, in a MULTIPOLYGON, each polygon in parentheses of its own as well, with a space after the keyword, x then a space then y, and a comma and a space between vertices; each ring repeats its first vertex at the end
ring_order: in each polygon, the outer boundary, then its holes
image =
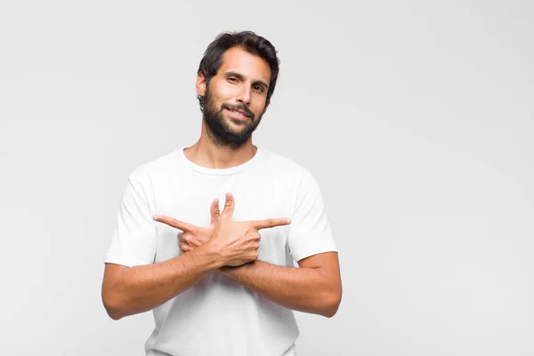
MULTIPOLYGON (((207 226, 212 200, 219 198, 223 211, 226 192, 235 198, 235 221, 292 220, 260 231, 259 260, 294 267, 294 260, 336 251, 320 187, 308 170, 259 148, 242 165, 206 168, 190 162, 182 148, 130 174, 104 262, 132 267, 180 255, 181 231, 153 221, 152 215, 207 226)), ((153 313, 147 355, 295 355, 299 330, 293 311, 218 271, 153 313)))

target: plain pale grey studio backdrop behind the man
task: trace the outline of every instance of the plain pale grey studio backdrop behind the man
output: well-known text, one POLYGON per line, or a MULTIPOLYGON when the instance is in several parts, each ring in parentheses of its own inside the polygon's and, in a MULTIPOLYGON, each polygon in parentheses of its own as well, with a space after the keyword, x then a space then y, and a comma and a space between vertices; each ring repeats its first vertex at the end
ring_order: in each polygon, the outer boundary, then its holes
POLYGON ((144 354, 151 312, 101 303, 126 178, 196 142, 202 54, 250 29, 281 61, 254 142, 312 171, 340 251, 340 309, 297 313, 298 354, 534 355, 533 23, 529 1, 3 2, 2 354, 144 354))

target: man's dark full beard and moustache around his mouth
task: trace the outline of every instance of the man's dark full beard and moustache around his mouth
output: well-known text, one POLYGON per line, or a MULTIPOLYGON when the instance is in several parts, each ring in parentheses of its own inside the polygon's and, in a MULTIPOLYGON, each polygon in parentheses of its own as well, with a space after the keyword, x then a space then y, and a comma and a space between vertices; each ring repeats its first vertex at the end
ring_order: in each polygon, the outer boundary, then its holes
POLYGON ((211 140, 219 147, 228 147, 232 150, 239 149, 239 147, 247 142, 252 133, 254 133, 256 127, 260 125, 260 121, 262 121, 263 117, 262 114, 255 119, 255 115, 252 111, 243 104, 230 105, 223 103, 221 108, 216 108, 214 97, 209 89, 206 89, 204 95, 203 113, 204 115, 202 118, 206 123, 207 134, 211 140), (232 117, 227 118, 224 115, 225 111, 228 111, 227 109, 243 110, 248 116, 248 119, 246 121, 239 121, 232 117), (238 127, 232 127, 229 121, 238 127))

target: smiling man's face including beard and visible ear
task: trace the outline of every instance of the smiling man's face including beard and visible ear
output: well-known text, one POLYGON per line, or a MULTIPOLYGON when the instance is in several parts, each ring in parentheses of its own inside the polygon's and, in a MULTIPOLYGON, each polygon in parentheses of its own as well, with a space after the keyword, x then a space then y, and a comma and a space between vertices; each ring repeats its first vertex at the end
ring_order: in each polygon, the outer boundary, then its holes
POLYGON ((238 47, 223 54, 221 68, 208 85, 204 76, 198 75, 204 122, 216 144, 236 149, 249 140, 267 109, 270 80, 267 61, 238 47))

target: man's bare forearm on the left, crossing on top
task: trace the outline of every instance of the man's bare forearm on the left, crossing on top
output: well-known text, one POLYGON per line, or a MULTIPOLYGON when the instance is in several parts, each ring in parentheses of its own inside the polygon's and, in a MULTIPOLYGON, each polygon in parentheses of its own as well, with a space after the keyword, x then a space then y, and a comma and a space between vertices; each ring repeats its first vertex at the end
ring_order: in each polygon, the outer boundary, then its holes
POLYGON ((163 263, 126 268, 102 287, 111 318, 150 311, 221 267, 218 255, 202 247, 163 263))

